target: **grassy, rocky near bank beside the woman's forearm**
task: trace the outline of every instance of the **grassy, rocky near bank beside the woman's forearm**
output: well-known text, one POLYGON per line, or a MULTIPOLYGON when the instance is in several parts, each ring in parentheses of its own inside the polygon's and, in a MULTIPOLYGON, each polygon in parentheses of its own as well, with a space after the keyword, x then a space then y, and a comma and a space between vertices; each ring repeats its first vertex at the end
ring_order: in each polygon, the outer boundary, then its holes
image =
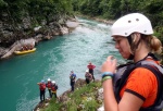
POLYGON ((79 78, 76 81, 74 92, 67 90, 58 99, 46 100, 34 111, 96 111, 102 102, 101 81, 96 79, 87 85, 85 79, 79 78))

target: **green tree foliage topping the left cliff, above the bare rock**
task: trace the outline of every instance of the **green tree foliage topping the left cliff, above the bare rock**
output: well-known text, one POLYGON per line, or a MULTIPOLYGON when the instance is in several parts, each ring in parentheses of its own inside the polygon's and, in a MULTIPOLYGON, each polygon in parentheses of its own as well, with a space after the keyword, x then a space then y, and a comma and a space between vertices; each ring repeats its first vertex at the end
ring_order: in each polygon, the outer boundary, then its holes
POLYGON ((71 0, 0 0, 0 15, 7 15, 11 23, 21 23, 26 16, 35 22, 51 21, 53 16, 70 13, 71 0))

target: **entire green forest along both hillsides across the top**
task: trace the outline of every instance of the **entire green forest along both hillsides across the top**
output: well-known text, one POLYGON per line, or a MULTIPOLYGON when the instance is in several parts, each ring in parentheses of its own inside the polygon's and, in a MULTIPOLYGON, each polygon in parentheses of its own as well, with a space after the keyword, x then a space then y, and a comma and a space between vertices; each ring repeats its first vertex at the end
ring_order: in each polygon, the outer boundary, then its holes
POLYGON ((36 26, 63 25, 75 13, 116 20, 131 12, 146 14, 163 42, 162 0, 0 0, 0 46, 29 37, 36 26))

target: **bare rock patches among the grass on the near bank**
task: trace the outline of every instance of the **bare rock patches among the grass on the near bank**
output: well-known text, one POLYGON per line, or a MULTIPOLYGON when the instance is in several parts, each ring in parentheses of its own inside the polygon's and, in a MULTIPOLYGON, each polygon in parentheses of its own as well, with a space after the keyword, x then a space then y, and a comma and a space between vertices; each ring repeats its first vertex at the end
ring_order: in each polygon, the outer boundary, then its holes
MULTIPOLYGON (((101 88, 101 81, 100 79, 96 79, 93 83, 90 83, 90 84, 100 84, 99 87, 92 87, 93 88, 93 91, 91 91, 91 95, 93 97, 90 96, 90 94, 80 94, 82 98, 87 98, 87 99, 90 99, 90 100, 93 100, 98 102, 98 106, 97 106, 97 111, 104 111, 103 110, 103 89, 101 88)), ((82 79, 82 78, 78 78, 76 81, 76 84, 75 84, 75 91, 78 90, 79 88, 83 88, 86 86, 86 82, 85 79, 82 79)), ((61 96, 58 97, 57 99, 57 103, 61 103, 62 108, 60 109, 60 111, 68 111, 67 110, 67 102, 72 99, 70 99, 70 95, 74 95, 74 92, 71 91, 71 89, 66 90, 65 92, 63 92, 61 96)), ((52 98, 54 99, 54 98, 52 98)), ((79 99, 79 98, 78 98, 79 99)), ((43 111, 46 108, 48 108, 50 106, 50 99, 46 99, 45 102, 41 102, 41 103, 38 103, 36 106, 36 108, 34 109, 34 111, 43 111)), ((54 103, 52 103, 52 106, 55 106, 54 103)), ((77 111, 83 111, 85 110, 85 104, 83 102, 80 102, 79 104, 77 104, 77 111)), ((54 109, 53 109, 54 110, 54 109)))

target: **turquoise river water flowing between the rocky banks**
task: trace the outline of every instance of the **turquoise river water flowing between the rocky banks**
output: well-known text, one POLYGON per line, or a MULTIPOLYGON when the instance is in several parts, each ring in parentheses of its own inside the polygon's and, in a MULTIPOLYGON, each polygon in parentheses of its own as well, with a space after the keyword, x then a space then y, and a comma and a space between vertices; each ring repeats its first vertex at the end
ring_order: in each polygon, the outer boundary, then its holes
MULTIPOLYGON (((124 62, 110 36, 110 25, 78 18, 79 25, 70 35, 39 42, 36 52, 0 61, 0 111, 32 111, 39 102, 37 83, 48 77, 59 85, 58 95, 70 89, 70 71, 84 78, 87 64, 100 67, 108 55, 124 62)), ((48 97, 48 90, 46 92, 48 97)))

